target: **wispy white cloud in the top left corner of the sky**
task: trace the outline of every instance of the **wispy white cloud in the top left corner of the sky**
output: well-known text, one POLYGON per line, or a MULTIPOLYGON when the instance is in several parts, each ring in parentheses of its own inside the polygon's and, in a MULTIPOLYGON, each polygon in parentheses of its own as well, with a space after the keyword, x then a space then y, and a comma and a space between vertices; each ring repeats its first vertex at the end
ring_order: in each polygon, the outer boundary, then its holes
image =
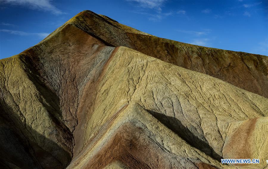
POLYGON ((55 7, 51 0, 0 0, 3 4, 24 6, 32 10, 42 10, 52 12, 53 14, 63 14, 61 10, 55 7))

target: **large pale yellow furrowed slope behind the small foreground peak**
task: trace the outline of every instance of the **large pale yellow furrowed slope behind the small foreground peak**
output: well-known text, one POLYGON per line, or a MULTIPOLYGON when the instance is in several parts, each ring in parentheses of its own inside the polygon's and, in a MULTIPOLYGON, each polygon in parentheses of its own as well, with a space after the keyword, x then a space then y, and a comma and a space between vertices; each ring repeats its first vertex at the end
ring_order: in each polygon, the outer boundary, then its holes
MULTIPOLYGON (((116 112, 137 103, 191 146, 214 159, 267 157, 268 119, 262 117, 268 114, 266 98, 129 48, 115 50, 96 89, 94 105, 89 108, 92 113, 82 127, 83 147, 87 140, 92 143, 100 137, 116 112), (248 124, 243 121, 254 121, 250 123, 251 131, 247 131, 248 124), (241 142, 247 144, 240 146, 241 142)), ((262 160, 259 166, 265 163, 262 160)))

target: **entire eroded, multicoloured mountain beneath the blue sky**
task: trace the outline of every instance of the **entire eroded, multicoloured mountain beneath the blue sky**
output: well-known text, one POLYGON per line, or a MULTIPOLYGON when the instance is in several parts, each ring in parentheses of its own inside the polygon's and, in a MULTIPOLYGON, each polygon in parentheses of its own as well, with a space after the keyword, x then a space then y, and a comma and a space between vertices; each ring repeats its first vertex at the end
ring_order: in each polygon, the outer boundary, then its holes
POLYGON ((0 166, 264 168, 267 72, 267 56, 166 40, 80 12, 0 60, 0 166))

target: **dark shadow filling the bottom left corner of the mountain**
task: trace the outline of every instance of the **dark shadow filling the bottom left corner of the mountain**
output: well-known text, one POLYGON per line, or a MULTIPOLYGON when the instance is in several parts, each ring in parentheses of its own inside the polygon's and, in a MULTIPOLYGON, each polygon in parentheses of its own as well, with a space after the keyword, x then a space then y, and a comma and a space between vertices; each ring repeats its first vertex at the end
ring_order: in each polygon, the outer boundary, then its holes
POLYGON ((13 108, 0 100, 0 168, 66 167, 71 154, 21 119, 13 108))

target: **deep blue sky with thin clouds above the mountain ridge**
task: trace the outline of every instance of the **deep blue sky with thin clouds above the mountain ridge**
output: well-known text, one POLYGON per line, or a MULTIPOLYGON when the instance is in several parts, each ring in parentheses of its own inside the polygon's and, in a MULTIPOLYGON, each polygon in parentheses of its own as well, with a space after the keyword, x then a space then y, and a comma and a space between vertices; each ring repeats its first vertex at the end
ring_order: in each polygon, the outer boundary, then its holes
POLYGON ((268 1, 0 0, 0 58, 22 52, 83 10, 158 37, 268 56, 268 1))

